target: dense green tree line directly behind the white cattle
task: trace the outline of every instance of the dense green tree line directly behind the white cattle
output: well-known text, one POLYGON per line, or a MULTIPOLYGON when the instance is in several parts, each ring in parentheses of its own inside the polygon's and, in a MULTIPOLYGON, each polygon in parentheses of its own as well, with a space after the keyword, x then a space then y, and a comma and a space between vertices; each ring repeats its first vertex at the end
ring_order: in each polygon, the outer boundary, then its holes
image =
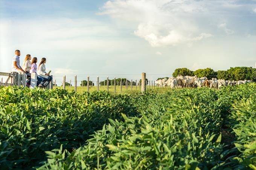
POLYGON ((230 67, 227 70, 214 71, 212 68, 197 69, 196 71, 189 70, 187 68, 177 68, 172 73, 173 77, 179 75, 189 75, 197 77, 207 77, 208 79, 217 78, 224 80, 253 80, 256 81, 256 68, 252 67, 230 67))

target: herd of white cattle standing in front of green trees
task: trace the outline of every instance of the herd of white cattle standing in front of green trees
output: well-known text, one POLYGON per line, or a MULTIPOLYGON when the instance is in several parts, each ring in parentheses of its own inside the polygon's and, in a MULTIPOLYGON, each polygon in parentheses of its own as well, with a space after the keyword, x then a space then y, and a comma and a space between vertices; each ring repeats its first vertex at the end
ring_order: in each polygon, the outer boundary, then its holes
POLYGON ((210 87, 219 89, 221 86, 235 86, 236 84, 250 83, 250 80, 239 80, 230 81, 222 80, 217 78, 212 78, 208 80, 207 77, 198 78, 195 76, 178 76, 177 78, 163 78, 156 80, 155 83, 160 87, 171 87, 171 88, 181 88, 181 87, 210 87))

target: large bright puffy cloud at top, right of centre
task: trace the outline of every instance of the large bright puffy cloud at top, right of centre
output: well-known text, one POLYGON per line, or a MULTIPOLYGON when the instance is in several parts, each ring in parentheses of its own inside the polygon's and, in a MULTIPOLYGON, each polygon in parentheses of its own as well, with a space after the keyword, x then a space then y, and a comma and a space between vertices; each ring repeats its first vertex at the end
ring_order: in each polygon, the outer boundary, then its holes
POLYGON ((152 47, 173 46, 212 37, 191 15, 207 11, 204 4, 188 0, 114 0, 108 1, 99 15, 134 23, 134 35, 145 39, 152 47))

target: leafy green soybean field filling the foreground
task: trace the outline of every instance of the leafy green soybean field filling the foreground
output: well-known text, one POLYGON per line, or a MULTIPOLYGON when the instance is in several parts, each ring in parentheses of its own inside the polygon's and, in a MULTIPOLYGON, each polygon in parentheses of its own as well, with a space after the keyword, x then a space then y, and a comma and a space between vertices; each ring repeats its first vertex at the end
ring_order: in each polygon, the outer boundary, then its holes
POLYGON ((113 94, 0 87, 1 169, 256 169, 256 83, 113 94))

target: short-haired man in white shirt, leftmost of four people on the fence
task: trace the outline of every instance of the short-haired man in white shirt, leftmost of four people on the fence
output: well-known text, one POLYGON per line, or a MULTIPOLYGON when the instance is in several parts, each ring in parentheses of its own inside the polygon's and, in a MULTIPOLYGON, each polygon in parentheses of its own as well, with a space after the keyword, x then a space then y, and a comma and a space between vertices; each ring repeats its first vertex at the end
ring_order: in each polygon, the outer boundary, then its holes
MULTIPOLYGON (((12 72, 18 72, 18 79, 21 79, 22 84, 26 85, 27 74, 20 66, 20 50, 15 50, 15 56, 12 59, 12 72), (23 73, 23 74, 20 74, 23 73)), ((18 84, 20 86, 20 84, 18 84)))

